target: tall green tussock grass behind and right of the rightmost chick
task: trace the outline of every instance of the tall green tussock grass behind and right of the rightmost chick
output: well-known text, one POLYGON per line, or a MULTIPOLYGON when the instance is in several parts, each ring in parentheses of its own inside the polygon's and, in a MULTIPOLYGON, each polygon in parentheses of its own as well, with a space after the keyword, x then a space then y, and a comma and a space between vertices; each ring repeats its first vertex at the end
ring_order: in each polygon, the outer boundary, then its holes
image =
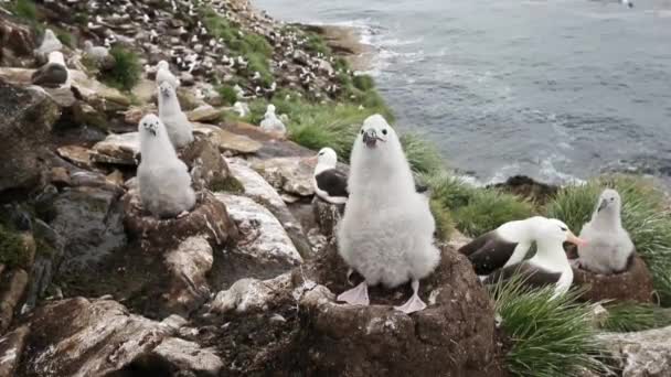
POLYGON ((608 175, 582 186, 565 187, 547 205, 547 216, 579 231, 596 207, 605 187, 617 190, 622 198, 622 226, 648 265, 663 305, 671 304, 671 213, 663 207, 663 193, 648 180, 629 175, 608 175))

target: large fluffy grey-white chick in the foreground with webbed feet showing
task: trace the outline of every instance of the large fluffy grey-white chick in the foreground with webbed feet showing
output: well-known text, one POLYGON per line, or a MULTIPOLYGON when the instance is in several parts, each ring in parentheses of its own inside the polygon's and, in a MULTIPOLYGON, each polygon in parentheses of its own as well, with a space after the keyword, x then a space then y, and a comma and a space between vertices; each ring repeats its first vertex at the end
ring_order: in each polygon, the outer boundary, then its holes
POLYGON ((364 121, 354 141, 348 190, 339 252, 365 281, 339 300, 368 304, 368 286, 394 288, 412 280, 413 297, 396 309, 411 313, 426 308, 417 291, 419 279, 440 260, 433 243, 435 222, 428 202, 415 191, 396 133, 380 115, 364 121))

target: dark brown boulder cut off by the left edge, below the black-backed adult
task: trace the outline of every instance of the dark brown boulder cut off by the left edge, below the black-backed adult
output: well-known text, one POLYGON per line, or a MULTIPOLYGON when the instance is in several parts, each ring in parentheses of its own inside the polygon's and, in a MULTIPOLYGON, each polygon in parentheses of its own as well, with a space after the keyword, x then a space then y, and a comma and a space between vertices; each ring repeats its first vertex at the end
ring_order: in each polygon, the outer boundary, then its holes
POLYGON ((58 106, 44 91, 0 80, 0 192, 30 188, 47 170, 46 144, 58 106))

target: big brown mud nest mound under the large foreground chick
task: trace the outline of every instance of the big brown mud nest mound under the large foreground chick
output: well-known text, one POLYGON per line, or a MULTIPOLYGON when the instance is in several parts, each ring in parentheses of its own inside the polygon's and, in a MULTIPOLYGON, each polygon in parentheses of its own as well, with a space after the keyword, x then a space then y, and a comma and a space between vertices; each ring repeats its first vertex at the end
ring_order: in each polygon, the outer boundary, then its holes
POLYGON ((309 375, 333 376, 500 376, 494 314, 468 260, 444 249, 440 265, 422 281, 427 309, 406 315, 390 305, 411 290, 370 290, 372 304, 334 302, 347 267, 334 247, 294 271, 302 287, 299 353, 309 375), (343 360, 347 359, 347 363, 343 360))

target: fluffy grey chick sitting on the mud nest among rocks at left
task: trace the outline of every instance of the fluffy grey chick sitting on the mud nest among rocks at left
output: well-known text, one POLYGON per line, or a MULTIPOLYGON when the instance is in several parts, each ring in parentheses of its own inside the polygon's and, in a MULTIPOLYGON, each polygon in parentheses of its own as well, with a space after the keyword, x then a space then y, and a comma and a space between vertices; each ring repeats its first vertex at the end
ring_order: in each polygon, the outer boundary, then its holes
POLYGON ((173 217, 195 205, 191 175, 177 157, 161 120, 150 114, 138 126, 141 162, 138 183, 142 207, 158 217, 173 217))

